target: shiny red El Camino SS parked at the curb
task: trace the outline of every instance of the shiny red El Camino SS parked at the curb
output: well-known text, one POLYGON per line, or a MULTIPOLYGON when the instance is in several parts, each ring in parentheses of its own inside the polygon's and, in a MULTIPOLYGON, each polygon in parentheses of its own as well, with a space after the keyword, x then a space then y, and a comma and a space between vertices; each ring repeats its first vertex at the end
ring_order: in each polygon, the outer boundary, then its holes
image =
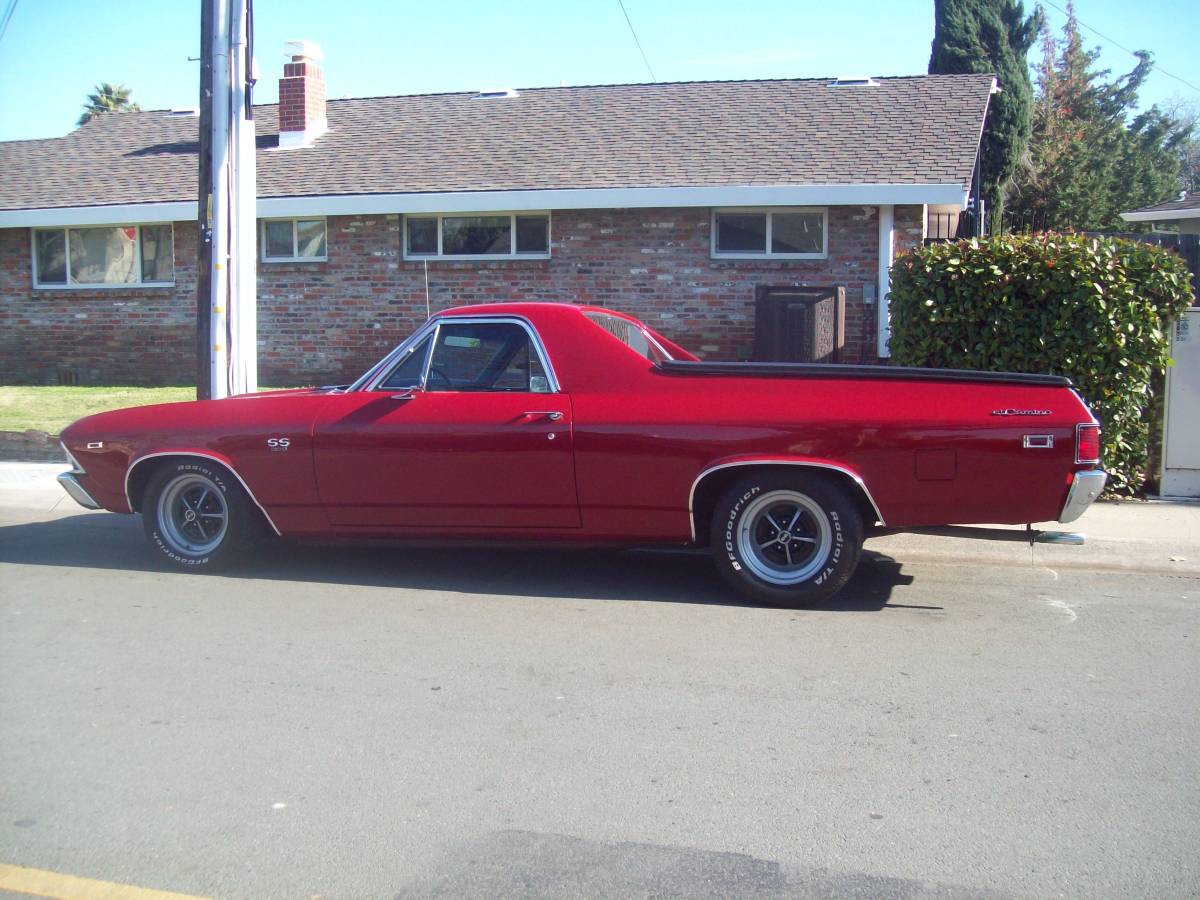
POLYGON ((262 534, 700 545, 762 601, 839 590, 864 529, 1076 518, 1099 426, 1064 378, 703 362, 636 319, 446 310, 349 386, 88 416, 84 506, 167 560, 262 534))

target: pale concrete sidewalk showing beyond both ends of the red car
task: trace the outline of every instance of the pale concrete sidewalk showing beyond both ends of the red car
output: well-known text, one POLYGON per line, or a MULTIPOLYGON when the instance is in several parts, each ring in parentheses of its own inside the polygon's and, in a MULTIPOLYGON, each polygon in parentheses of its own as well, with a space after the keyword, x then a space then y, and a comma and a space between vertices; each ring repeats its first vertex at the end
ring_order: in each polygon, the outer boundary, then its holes
MULTIPOLYGON (((0 508, 53 516, 85 514, 55 481, 65 463, 0 462, 0 508)), ((92 514, 102 515, 102 514, 92 514)), ((1022 526, 986 526, 1022 533, 1022 526)), ((866 550, 899 562, 1036 565, 1049 569, 1141 571, 1200 577, 1200 503, 1106 500, 1076 522, 1034 523, 1042 530, 1076 532, 1084 546, 989 540, 929 534, 870 538, 866 550)))

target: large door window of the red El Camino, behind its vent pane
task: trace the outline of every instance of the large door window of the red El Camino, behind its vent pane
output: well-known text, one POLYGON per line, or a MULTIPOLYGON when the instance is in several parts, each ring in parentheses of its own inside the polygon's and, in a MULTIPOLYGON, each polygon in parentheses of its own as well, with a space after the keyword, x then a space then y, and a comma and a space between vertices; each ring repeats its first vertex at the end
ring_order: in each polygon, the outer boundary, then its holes
POLYGON ((550 379, 529 332, 510 322, 443 322, 425 378, 427 391, 546 394, 550 379))

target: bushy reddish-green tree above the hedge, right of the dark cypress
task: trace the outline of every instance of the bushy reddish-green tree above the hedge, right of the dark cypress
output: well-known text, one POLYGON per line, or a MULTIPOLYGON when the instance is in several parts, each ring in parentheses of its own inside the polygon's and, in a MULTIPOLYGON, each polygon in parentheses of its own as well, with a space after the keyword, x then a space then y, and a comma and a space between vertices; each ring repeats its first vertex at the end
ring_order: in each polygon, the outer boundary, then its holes
POLYGON ((1158 107, 1135 113, 1138 90, 1153 68, 1138 65, 1110 80, 1084 48, 1074 7, 1061 40, 1042 31, 1042 62, 1030 158, 1010 206, 1019 220, 1051 229, 1127 230, 1121 212, 1178 192, 1180 152, 1189 128, 1158 107))

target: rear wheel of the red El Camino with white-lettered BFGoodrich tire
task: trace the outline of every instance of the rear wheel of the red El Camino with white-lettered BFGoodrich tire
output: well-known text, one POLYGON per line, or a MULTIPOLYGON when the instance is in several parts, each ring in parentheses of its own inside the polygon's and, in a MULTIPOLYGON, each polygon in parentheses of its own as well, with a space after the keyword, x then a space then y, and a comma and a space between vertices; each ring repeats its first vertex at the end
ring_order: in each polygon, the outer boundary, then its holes
POLYGON ((827 478, 764 470, 721 496, 710 536, 718 569, 743 594, 808 606, 836 594, 853 575, 863 517, 827 478))

